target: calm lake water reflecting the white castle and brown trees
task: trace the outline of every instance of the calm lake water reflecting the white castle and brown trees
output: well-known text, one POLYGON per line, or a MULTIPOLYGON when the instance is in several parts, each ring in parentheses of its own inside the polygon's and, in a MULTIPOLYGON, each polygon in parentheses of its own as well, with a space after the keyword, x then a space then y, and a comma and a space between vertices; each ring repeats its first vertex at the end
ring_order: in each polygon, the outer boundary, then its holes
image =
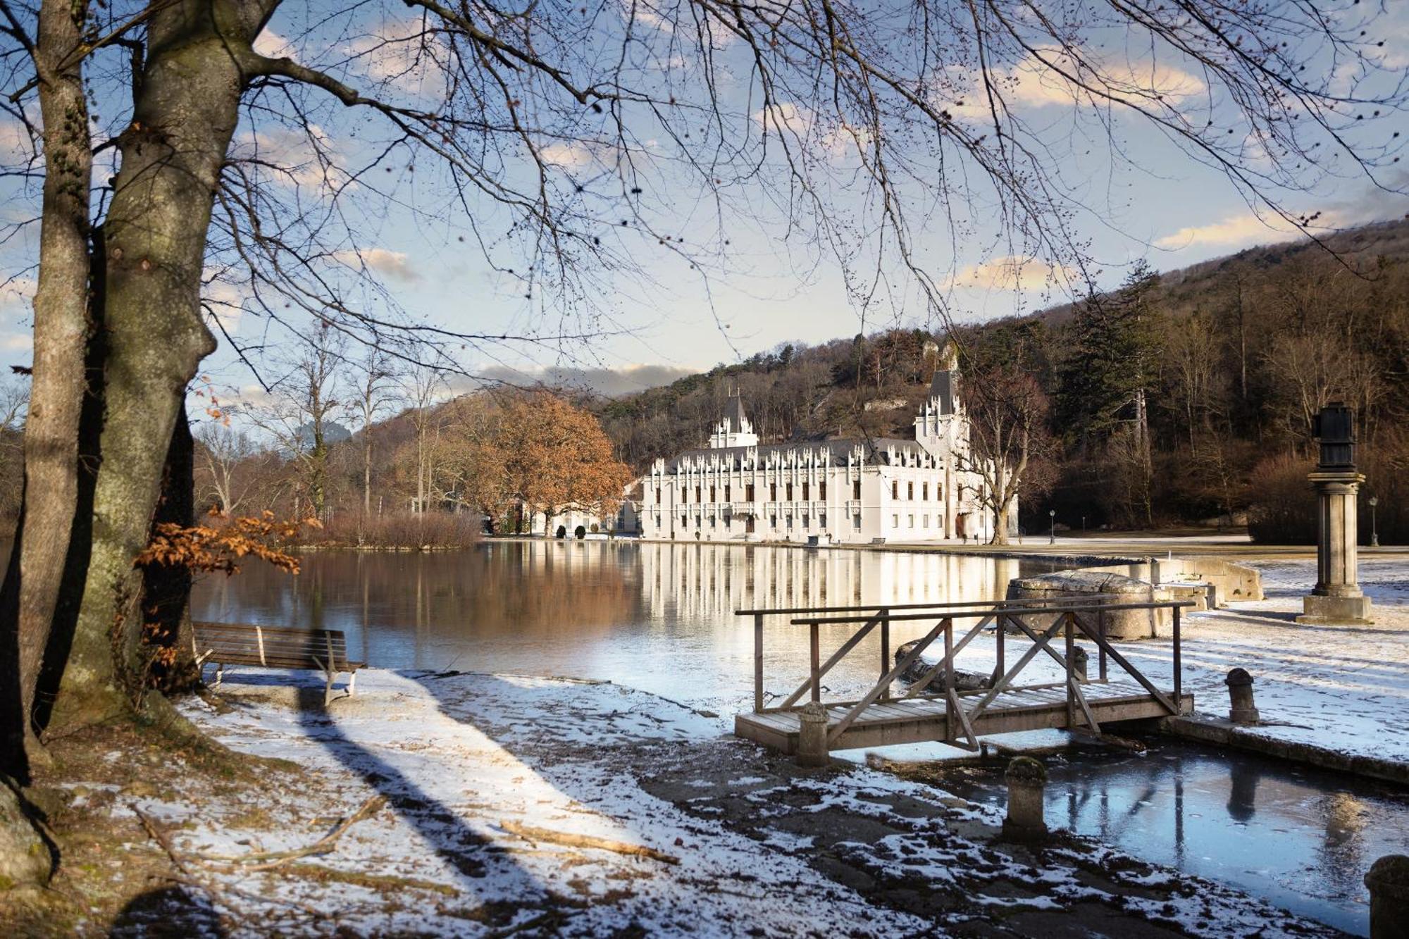
MULTIPOLYGON (((752 630, 735 609, 998 598, 1031 570, 933 553, 496 540, 457 553, 310 553, 293 578, 249 565, 199 584, 193 612, 341 629, 378 667, 606 678, 731 709, 751 698, 752 675, 752 630)), ((898 626, 896 643, 924 629, 898 626)), ((838 644, 851 629, 831 632, 838 644)), ((772 618, 766 646, 779 688, 805 671, 803 629, 772 618)), ((874 681, 868 647, 855 658, 828 675, 834 687, 874 681)))

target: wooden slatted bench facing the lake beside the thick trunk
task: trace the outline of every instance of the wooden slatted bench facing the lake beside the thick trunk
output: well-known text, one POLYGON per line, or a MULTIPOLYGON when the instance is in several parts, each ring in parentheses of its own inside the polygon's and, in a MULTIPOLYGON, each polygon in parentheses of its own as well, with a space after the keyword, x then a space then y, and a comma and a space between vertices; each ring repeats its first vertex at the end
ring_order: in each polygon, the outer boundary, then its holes
POLYGON ((348 673, 348 695, 356 688, 356 670, 365 661, 348 661, 347 634, 337 629, 285 629, 252 623, 193 623, 196 665, 216 663, 216 685, 225 675, 225 665, 265 665, 268 668, 311 668, 328 678, 323 701, 333 695, 333 681, 348 673))

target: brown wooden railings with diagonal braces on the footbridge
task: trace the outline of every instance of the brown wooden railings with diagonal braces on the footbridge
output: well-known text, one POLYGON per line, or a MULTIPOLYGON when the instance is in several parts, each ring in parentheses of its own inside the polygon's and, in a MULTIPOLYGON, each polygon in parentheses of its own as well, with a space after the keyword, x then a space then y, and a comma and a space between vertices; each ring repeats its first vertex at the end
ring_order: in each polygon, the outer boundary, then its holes
POLYGON ((993 699, 999 694, 1007 689, 1014 689, 1013 680, 1027 667, 1038 653, 1045 653, 1065 673, 1065 681, 1062 682, 1067 688, 1067 720, 1069 728, 1078 726, 1078 711, 1085 723, 1092 729, 1099 732, 1099 725, 1092 715, 1091 706, 1086 702, 1085 695, 1081 691, 1081 685, 1086 681, 1084 675, 1078 675, 1075 670, 1075 642, 1076 634, 1082 634, 1096 644, 1098 649, 1098 681, 1107 681, 1109 661, 1115 661, 1126 674, 1134 678, 1141 688, 1144 688, 1155 701, 1160 702, 1171 715, 1179 713, 1179 701, 1184 691, 1184 675, 1182 675, 1182 649, 1179 636, 1179 612, 1185 606, 1193 606, 1191 601, 1175 601, 1164 603, 1092 603, 1089 598, 1074 596, 1074 598, 1053 598, 1053 599, 1009 599, 1009 601, 965 601, 952 603, 892 603, 885 606, 812 606, 812 608, 781 608, 781 609, 743 609, 737 610, 740 616, 754 618, 754 712, 768 713, 776 711, 790 711, 799 706, 803 695, 809 695, 810 701, 821 702, 821 680, 831 671, 840 661, 843 661, 861 642, 871 634, 876 627, 881 632, 881 667, 879 680, 875 685, 858 701, 840 701, 830 702, 828 706, 848 706, 847 713, 840 722, 833 725, 828 730, 828 742, 836 742, 847 728, 850 728, 861 713, 876 702, 886 702, 892 699, 890 688, 895 681, 910 670, 914 663, 921 660, 924 651, 938 639, 944 640, 944 656, 930 668, 924 671, 921 678, 910 685, 910 688, 899 698, 906 699, 933 699, 944 698, 947 708, 947 739, 957 740, 958 732, 962 730, 964 737, 968 743, 976 749, 978 742, 974 735, 974 722, 992 705, 993 699), (1110 642, 1106 639, 1106 613, 1117 610, 1151 610, 1154 615, 1160 609, 1169 609, 1172 612, 1172 639, 1174 639, 1174 696, 1164 694, 1160 688, 1154 685, 1138 668, 1130 664, 1130 661, 1122 656, 1110 642), (765 706, 764 704, 764 618, 765 616, 779 616, 786 615, 793 619, 789 620, 795 626, 809 627, 809 656, 810 668, 807 678, 786 698, 783 698, 781 705, 765 706), (1040 632, 1034 629, 1027 619, 1038 619, 1045 615, 1054 615, 1051 623, 1041 627, 1040 632), (903 656, 899 661, 890 660, 890 625, 896 622, 916 622, 916 620, 934 620, 938 622, 927 632, 914 647, 903 656), (962 636, 955 642, 954 637, 954 620, 975 619, 976 622, 962 636), (821 661, 821 626, 830 625, 847 625, 859 623, 858 629, 844 642, 841 646, 831 653, 826 661, 821 661), (1017 632, 1027 636, 1031 640, 1031 646, 1019 657, 1017 663, 1012 667, 1006 667, 1006 626, 1012 626, 1017 632), (978 704, 965 711, 960 702, 960 692, 954 687, 954 663, 957 656, 985 629, 989 626, 996 627, 995 643, 996 643, 996 658, 998 664, 989 678, 989 687, 981 692, 965 692, 965 696, 979 696, 978 704), (1051 647, 1053 639, 1058 633, 1062 633, 1065 640, 1064 654, 1058 653, 1051 647), (1109 661, 1107 661, 1109 660, 1109 661), (930 692, 927 691, 930 682, 943 675, 943 691, 930 692))

